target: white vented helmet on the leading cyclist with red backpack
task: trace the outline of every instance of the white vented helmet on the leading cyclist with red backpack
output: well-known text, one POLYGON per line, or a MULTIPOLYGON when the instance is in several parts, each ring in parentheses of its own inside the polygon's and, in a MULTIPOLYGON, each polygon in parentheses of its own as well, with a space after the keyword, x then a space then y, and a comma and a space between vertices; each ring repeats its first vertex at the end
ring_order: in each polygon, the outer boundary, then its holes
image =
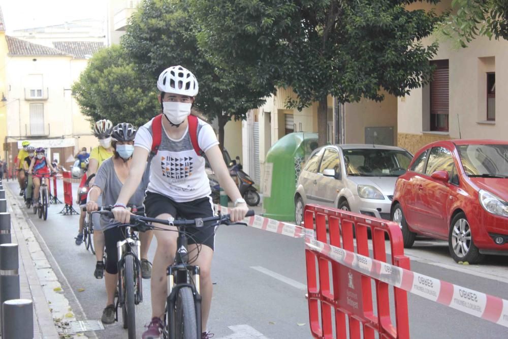
POLYGON ((161 92, 195 97, 198 94, 198 80, 194 74, 181 66, 165 69, 157 80, 157 88, 161 92))

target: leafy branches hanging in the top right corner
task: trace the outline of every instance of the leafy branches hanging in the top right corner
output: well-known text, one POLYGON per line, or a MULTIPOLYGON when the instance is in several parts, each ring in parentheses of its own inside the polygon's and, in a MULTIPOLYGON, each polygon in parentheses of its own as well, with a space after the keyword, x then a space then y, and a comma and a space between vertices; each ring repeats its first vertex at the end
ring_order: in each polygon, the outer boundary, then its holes
POLYGON ((467 47, 478 36, 508 40, 508 1, 506 0, 453 0, 451 14, 444 33, 458 38, 467 47))

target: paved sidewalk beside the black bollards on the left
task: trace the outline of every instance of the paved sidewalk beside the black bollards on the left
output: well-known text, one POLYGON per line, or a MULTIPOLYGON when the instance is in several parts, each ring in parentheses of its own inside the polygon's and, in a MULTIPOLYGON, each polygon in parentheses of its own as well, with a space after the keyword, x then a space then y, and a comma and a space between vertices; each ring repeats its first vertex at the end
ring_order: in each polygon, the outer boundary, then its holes
POLYGON ((68 333, 69 322, 76 320, 69 301, 34 234, 37 230, 31 229, 33 224, 23 214, 22 199, 6 182, 4 190, 11 214, 11 241, 18 244, 20 297, 34 303, 34 338, 84 337, 83 333, 68 333))

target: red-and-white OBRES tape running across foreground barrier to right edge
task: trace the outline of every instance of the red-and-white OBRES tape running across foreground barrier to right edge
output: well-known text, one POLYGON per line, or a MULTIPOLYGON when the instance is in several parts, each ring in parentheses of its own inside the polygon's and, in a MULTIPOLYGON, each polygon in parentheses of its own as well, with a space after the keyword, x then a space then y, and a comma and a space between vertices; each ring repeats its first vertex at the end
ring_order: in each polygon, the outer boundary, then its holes
POLYGON ((317 241, 312 236, 305 238, 305 245, 308 249, 319 252, 329 259, 371 278, 458 311, 508 327, 508 300, 346 251, 317 241))

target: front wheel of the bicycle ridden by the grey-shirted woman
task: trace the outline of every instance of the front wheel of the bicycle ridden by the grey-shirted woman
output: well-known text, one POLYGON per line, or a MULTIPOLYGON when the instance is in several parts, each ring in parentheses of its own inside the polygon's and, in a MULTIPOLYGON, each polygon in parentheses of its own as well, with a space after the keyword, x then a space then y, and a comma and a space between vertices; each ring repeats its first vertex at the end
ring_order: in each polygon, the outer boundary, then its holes
POLYGON ((136 338, 136 309, 134 299, 136 290, 134 289, 134 257, 132 255, 125 256, 125 276, 123 277, 124 300, 122 305, 123 328, 127 328, 129 339, 136 338))

